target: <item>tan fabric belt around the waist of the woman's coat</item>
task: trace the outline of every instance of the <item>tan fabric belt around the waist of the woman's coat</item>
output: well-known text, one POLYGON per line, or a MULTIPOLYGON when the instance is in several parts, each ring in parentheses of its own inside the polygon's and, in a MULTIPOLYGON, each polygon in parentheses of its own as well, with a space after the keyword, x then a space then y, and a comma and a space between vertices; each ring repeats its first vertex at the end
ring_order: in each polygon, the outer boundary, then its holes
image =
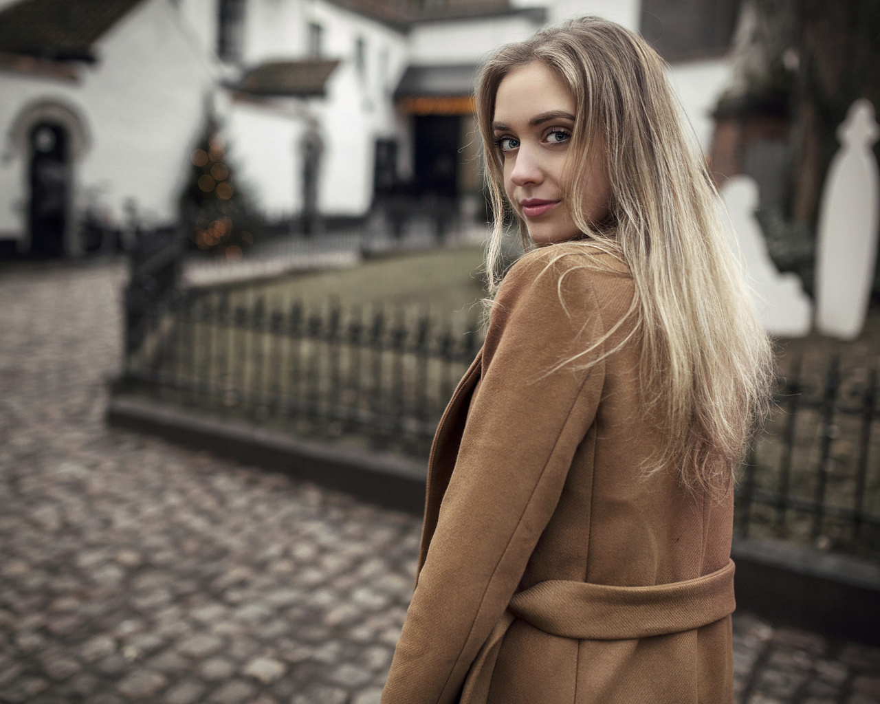
POLYGON ((683 582, 616 587, 550 580, 518 592, 483 644, 462 691, 462 704, 488 700, 504 634, 514 619, 562 638, 628 640, 708 626, 736 608, 734 564, 683 582))

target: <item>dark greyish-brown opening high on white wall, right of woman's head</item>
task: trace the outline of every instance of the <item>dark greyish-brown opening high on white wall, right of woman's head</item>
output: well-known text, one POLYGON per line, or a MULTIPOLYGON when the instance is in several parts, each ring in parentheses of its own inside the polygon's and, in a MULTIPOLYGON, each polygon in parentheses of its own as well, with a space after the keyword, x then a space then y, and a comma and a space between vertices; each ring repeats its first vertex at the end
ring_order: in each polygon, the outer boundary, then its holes
POLYGON ((720 56, 730 48, 741 0, 642 0, 642 36, 666 61, 720 56))

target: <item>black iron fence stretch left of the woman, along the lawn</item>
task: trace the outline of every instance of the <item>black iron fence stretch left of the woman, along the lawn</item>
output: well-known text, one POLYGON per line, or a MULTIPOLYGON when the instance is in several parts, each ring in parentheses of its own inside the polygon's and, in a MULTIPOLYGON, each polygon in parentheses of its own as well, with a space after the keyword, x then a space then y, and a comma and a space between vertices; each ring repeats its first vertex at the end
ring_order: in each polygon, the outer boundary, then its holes
POLYGON ((231 301, 169 299, 142 321, 129 386, 310 436, 426 455, 458 378, 482 342, 476 321, 231 301))

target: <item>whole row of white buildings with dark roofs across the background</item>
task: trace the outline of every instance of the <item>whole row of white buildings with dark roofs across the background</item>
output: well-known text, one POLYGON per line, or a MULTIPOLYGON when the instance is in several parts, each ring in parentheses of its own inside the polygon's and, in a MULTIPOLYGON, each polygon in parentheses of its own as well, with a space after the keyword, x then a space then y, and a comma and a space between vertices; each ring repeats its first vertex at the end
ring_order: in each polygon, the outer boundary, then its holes
MULTIPOLYGON (((269 222, 363 218, 388 192, 473 209, 480 57, 580 12, 638 29, 664 3, 0 0, 0 240, 77 254, 87 213, 173 226, 209 114, 269 222)), ((728 73, 723 50, 673 69, 704 147, 728 73)))

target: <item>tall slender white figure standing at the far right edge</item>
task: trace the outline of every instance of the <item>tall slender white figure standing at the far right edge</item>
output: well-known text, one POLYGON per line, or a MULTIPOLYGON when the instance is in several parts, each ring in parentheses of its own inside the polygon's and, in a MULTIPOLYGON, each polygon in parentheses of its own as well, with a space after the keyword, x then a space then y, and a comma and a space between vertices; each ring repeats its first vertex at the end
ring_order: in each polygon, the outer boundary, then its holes
POLYGON ((880 136, 874 106, 856 100, 837 132, 842 144, 825 180, 816 253, 816 326, 853 340, 868 312, 880 224, 880 175, 871 146, 880 136))

